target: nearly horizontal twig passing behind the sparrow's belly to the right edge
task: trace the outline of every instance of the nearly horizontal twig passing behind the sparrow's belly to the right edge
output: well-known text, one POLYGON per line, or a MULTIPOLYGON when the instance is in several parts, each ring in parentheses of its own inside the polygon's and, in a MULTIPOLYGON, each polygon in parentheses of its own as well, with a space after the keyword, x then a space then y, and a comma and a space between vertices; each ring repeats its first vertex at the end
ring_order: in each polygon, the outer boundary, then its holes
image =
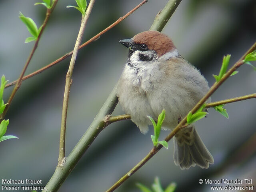
MULTIPOLYGON (((205 108, 211 108, 211 107, 215 107, 215 106, 222 105, 222 104, 228 104, 228 103, 238 102, 238 101, 252 99, 252 98, 256 98, 256 93, 207 103, 205 108)), ((126 119, 130 119, 130 118, 131 118, 130 115, 123 114, 123 115, 117 115, 117 116, 110 116, 107 118, 107 121, 108 121, 108 123, 114 123, 117 121, 126 120, 126 119)))

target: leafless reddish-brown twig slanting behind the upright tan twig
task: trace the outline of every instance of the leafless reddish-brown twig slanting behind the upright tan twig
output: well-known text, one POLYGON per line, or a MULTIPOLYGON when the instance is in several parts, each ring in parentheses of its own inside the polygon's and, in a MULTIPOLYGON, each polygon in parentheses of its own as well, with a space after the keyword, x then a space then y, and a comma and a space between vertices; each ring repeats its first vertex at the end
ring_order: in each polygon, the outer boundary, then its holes
MULTIPOLYGON (((86 41, 84 44, 80 45, 79 46, 79 49, 85 47, 86 45, 90 44, 91 42, 93 42, 94 40, 98 39, 102 34, 106 33, 108 30, 110 30, 111 28, 113 28, 114 26, 116 26, 118 23, 120 23, 122 20, 124 20, 126 17, 128 17, 130 14, 132 14, 134 11, 136 11, 140 6, 142 6, 143 4, 145 4, 148 0, 143 0, 140 4, 138 4, 136 7, 134 7, 132 10, 130 10, 126 15, 120 17, 118 20, 116 20, 116 22, 114 22, 113 24, 111 24, 110 26, 108 26, 106 29, 104 29, 103 31, 101 31, 100 33, 98 33, 97 35, 95 35, 94 37, 92 37, 90 40, 86 41)), ((70 55, 72 55, 73 53, 73 50, 68 52, 67 54, 65 54, 64 56, 58 58, 57 60, 55 60, 54 62, 48 64, 47 66, 44 66, 43 68, 35 71, 35 72, 32 72, 26 76, 24 76, 22 78, 22 81, 30 78, 30 77, 33 77, 41 72, 43 72, 44 70, 54 66, 55 64, 61 62, 62 60, 68 58, 70 55)), ((17 83, 17 80, 16 81, 13 81, 13 82, 10 82, 8 84, 6 84, 5 88, 7 87, 10 87, 10 86, 13 86, 17 83)))

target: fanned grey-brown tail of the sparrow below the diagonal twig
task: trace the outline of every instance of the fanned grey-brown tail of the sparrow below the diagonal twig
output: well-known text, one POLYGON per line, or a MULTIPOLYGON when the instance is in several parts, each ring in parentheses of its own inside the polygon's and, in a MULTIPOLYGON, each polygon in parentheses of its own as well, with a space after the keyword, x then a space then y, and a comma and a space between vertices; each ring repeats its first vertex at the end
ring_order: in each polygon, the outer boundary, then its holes
POLYGON ((214 160, 194 126, 183 128, 174 138, 174 163, 180 168, 188 169, 191 166, 208 168, 214 160))

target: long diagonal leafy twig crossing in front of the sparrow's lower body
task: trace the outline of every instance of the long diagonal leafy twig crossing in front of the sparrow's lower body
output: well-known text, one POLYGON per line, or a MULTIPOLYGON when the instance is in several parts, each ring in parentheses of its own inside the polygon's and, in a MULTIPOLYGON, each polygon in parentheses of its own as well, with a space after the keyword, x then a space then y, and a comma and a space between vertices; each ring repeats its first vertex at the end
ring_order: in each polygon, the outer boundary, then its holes
MULTIPOLYGON (((247 54, 255 50, 256 42, 254 45, 246 52, 247 54)), ((205 96, 194 106, 194 108, 191 110, 192 114, 194 114, 205 102, 210 98, 210 96, 218 89, 218 87, 234 72, 237 68, 239 68, 242 64, 244 64, 244 56, 236 62, 230 70, 222 77, 222 79, 219 82, 216 82, 213 84, 213 86, 210 88, 210 90, 205 94, 205 96)), ((184 125, 187 122, 187 116, 182 119, 182 121, 174 128, 174 130, 164 139, 166 142, 170 141, 174 135, 180 131, 184 125)), ((134 174, 137 170, 139 170, 148 160, 150 160, 163 146, 158 144, 156 147, 153 147, 152 150, 148 153, 145 158, 143 158, 134 168, 132 168, 129 172, 127 172, 120 180, 118 180, 112 187, 110 187, 106 192, 113 192, 118 186, 120 186, 125 180, 127 180, 132 174, 134 174)))

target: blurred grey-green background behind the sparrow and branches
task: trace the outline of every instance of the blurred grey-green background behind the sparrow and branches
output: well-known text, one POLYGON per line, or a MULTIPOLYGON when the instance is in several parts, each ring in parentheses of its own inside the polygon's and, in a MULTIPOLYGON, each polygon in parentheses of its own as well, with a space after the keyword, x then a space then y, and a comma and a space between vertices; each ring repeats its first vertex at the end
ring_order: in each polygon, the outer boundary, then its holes
MULTIPOLYGON (((88 40, 142 0, 96 0, 84 33, 88 40)), ((30 36, 18 18, 21 11, 38 26, 45 16, 38 1, 0 1, 0 75, 16 80, 32 49, 25 44, 30 36)), ((124 38, 148 30, 156 14, 167 0, 149 0, 97 41, 78 53, 70 92, 66 154, 84 134, 94 116, 116 84, 126 62, 128 50, 118 43, 124 38)), ((59 0, 40 39, 38 49, 26 71, 34 72, 74 48, 81 15, 74 0, 59 0)), ((179 53, 197 66, 209 81, 218 74, 222 58, 231 54, 234 64, 256 41, 255 0, 183 0, 163 33, 172 38, 179 53)), ((59 132, 65 75, 70 58, 22 83, 6 118, 10 124, 7 135, 18 140, 0 143, 0 179, 42 179, 45 186, 58 161, 59 132)), ((255 65, 255 63, 254 63, 255 65)), ((256 72, 248 66, 239 68, 212 96, 212 101, 254 93, 256 72)), ((7 88, 4 100, 12 88, 7 88)), ((180 170, 174 165, 173 144, 161 150, 117 192, 138 192, 135 183, 150 185, 158 176, 162 186, 177 183, 178 192, 207 192, 210 185, 198 184, 199 179, 245 179, 256 182, 256 125, 254 99, 228 104, 229 119, 214 109, 207 118, 196 123, 198 133, 214 156, 208 170, 199 167, 180 170)), ((115 115, 123 114, 118 105, 115 115)), ((62 192, 103 192, 137 164, 152 148, 150 134, 140 134, 130 120, 108 126, 96 138, 66 182, 62 192)), ((162 132, 164 138, 168 132, 162 132)))

